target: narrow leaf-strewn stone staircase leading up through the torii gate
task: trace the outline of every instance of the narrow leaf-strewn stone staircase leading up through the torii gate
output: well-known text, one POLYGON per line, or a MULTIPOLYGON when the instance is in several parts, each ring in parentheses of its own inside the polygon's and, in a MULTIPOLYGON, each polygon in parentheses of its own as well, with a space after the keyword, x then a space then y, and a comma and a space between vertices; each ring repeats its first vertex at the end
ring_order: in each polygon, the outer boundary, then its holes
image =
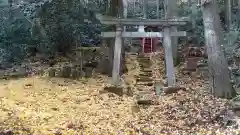
POLYGON ((153 95, 152 90, 154 87, 151 56, 139 54, 137 60, 140 67, 140 73, 136 76, 136 88, 138 92, 136 100, 138 104, 151 104, 151 97, 153 95))

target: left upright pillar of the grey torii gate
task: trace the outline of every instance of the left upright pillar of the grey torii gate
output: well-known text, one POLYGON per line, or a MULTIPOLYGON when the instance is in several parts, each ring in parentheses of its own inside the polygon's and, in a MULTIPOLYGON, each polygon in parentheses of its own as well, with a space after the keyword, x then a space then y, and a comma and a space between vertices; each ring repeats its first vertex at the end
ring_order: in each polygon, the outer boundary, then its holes
POLYGON ((120 64, 121 64, 121 50, 122 50, 122 27, 116 26, 116 37, 114 46, 114 59, 113 59, 113 70, 112 79, 113 85, 117 86, 120 81, 120 64))

